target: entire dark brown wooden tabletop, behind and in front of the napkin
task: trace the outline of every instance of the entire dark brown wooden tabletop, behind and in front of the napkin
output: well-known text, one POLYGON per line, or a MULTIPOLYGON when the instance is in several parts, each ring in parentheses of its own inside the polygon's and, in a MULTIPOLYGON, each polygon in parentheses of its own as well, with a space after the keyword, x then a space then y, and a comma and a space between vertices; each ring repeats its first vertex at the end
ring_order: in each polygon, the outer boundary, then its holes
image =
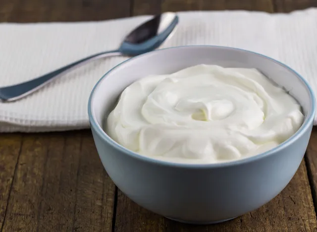
MULTIPOLYGON (((106 20, 161 11, 289 12, 317 0, 0 0, 0 21, 106 20)), ((2 35, 0 35, 2 36, 2 35)), ((211 226, 176 223, 130 201, 89 130, 0 134, 0 232, 317 232, 317 129, 298 172, 260 209, 211 226)))

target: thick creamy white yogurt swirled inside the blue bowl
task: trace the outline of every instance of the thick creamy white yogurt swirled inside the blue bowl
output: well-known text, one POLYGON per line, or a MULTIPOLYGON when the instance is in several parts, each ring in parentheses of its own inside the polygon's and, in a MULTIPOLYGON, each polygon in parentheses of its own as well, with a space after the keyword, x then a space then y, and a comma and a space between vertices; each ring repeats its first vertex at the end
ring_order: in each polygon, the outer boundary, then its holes
POLYGON ((295 99, 257 69, 201 64, 128 86, 106 132, 144 156, 204 164, 267 151, 303 120, 295 99))

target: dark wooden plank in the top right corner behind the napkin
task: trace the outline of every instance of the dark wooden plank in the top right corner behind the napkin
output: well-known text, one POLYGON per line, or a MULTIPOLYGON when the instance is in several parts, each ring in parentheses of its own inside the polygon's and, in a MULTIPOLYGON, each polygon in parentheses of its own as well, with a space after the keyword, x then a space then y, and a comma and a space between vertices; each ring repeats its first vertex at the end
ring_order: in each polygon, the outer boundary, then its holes
POLYGON ((316 6, 317 0, 274 0, 274 11, 276 12, 290 12, 316 6))

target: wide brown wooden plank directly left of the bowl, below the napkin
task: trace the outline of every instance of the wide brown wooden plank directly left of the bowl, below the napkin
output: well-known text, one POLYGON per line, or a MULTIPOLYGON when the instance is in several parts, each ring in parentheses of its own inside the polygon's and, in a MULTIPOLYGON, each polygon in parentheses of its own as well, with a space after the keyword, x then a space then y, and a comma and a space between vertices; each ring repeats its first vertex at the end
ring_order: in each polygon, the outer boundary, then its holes
POLYGON ((114 194, 90 131, 28 134, 2 231, 110 232, 114 194))

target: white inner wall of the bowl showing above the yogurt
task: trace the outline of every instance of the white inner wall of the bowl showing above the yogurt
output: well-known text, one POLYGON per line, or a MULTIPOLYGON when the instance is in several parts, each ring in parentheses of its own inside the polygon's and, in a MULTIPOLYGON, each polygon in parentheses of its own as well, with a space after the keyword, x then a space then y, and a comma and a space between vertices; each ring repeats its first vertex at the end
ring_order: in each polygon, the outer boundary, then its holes
POLYGON ((239 49, 187 46, 158 50, 131 58, 110 70, 99 81, 92 93, 90 110, 93 120, 104 128, 106 116, 113 109, 120 93, 137 79, 149 75, 169 74, 197 64, 257 68, 273 82, 289 91, 301 104, 305 122, 314 113, 313 99, 315 98, 312 91, 305 81, 286 65, 271 58, 239 49))

